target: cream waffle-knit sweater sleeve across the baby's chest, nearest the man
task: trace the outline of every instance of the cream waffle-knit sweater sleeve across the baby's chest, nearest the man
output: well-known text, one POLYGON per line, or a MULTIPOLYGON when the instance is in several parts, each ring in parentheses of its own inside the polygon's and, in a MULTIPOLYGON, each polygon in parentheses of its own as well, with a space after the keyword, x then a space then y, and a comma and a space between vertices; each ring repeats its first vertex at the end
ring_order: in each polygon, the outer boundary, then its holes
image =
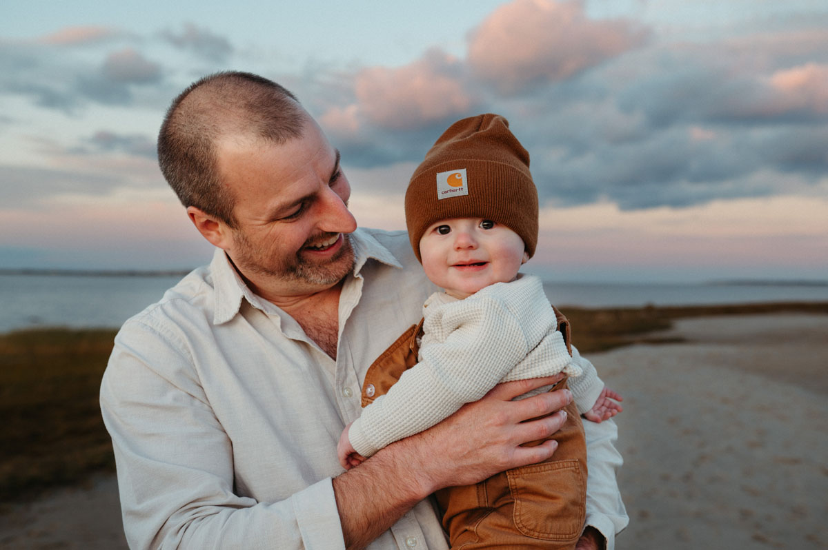
POLYGON ((437 332, 441 342, 424 342, 420 362, 363 409, 349 429, 351 445, 363 457, 480 399, 529 351, 510 308, 488 294, 437 306, 424 328, 437 332))

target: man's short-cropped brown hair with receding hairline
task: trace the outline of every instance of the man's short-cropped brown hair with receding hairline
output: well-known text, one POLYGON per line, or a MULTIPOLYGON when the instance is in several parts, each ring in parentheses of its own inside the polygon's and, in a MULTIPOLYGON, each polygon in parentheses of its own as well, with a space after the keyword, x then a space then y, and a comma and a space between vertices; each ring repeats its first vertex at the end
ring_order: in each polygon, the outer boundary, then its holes
POLYGON ((235 199, 219 181, 219 138, 235 134, 281 144, 301 136, 307 117, 299 100, 271 80, 238 71, 210 74, 166 112, 158 134, 161 173, 185 207, 235 228, 235 199))

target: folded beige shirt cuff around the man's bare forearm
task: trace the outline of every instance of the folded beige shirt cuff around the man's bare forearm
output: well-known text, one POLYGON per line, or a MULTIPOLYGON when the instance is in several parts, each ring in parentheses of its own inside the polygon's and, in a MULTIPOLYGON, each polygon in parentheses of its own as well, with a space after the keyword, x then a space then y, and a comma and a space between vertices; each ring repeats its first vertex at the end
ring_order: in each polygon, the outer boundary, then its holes
POLYGON ((344 550, 332 478, 317 481, 293 495, 292 500, 305 548, 344 550))

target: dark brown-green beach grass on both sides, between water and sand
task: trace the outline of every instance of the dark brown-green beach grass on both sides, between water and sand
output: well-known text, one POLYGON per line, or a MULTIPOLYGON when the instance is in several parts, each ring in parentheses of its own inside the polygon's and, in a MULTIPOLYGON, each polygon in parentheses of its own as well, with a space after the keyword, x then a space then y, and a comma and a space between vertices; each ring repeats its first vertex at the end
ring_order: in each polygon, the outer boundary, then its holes
MULTIPOLYGON (((828 303, 562 308, 585 354, 637 342, 670 343, 672 319, 751 313, 828 313, 828 303)), ((114 471, 99 386, 115 330, 43 328, 0 334, 0 503, 114 471)))

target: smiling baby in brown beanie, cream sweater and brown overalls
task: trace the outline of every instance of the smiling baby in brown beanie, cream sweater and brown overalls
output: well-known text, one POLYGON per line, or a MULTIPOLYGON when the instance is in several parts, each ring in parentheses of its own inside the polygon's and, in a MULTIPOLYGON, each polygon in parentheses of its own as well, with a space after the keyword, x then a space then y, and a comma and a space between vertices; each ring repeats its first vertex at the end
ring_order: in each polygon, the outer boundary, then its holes
POLYGON ((566 375, 517 398, 572 391, 549 461, 437 493, 452 548, 575 548, 585 519, 580 414, 600 422, 622 410, 570 346, 569 323, 541 280, 518 274, 535 252, 537 217, 529 155, 506 119, 466 118, 440 136, 408 186, 406 222, 417 259, 444 292, 368 369, 367 406, 339 439, 339 461, 354 467, 500 382, 566 375))

